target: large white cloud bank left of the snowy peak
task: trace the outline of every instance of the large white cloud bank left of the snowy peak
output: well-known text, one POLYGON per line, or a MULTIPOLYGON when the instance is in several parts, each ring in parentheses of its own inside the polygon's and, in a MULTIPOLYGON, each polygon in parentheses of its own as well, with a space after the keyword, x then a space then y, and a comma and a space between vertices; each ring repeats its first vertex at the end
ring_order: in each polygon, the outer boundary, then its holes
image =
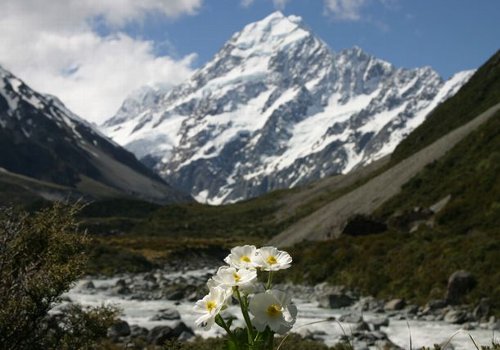
POLYGON ((4 0, 0 64, 34 89, 58 96, 77 114, 100 123, 145 84, 177 84, 194 55, 158 56, 153 42, 121 31, 150 13, 192 15, 202 0, 4 0), (94 25, 109 28, 100 35, 94 25))

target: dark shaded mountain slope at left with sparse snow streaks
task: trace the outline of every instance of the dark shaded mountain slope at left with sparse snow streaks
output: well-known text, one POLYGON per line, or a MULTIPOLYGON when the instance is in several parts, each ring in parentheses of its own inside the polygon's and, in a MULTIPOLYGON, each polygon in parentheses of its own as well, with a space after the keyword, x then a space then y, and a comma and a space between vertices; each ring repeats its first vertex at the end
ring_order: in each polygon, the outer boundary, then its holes
POLYGON ((2 176, 60 190, 57 195, 32 191, 44 198, 133 196, 163 203, 189 199, 56 97, 35 92, 1 66, 0 148, 2 176))

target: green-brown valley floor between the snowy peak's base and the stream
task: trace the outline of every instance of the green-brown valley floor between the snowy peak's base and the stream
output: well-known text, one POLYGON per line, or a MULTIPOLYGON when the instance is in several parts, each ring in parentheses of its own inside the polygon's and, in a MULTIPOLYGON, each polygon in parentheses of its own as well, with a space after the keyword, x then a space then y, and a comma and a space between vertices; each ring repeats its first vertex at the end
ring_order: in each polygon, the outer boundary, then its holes
POLYGON ((381 166, 353 178, 331 177, 224 206, 160 207, 123 199, 91 203, 79 214, 82 227, 93 238, 88 272, 146 271, 184 249, 212 254, 238 244, 263 245, 290 224, 366 182, 381 166))

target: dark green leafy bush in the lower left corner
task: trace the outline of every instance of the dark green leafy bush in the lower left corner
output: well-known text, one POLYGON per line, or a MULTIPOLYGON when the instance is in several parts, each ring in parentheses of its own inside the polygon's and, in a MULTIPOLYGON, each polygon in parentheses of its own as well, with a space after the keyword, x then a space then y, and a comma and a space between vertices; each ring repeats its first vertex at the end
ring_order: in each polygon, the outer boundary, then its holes
POLYGON ((108 307, 48 314, 86 266, 76 210, 0 210, 0 349, 95 348, 114 322, 117 311, 108 307))

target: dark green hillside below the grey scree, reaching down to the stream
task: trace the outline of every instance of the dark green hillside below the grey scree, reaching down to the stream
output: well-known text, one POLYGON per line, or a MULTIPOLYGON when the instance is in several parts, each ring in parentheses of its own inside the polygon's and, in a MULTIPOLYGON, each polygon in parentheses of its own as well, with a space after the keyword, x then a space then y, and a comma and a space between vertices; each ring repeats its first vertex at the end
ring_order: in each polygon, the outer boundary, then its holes
POLYGON ((413 233, 394 227, 380 235, 299 244, 292 249, 292 280, 329 281, 423 303, 442 298, 449 275, 466 269, 478 283, 464 301, 489 297, 500 315, 499 130, 500 112, 376 212, 388 220, 451 195, 433 227, 422 225, 413 233))

